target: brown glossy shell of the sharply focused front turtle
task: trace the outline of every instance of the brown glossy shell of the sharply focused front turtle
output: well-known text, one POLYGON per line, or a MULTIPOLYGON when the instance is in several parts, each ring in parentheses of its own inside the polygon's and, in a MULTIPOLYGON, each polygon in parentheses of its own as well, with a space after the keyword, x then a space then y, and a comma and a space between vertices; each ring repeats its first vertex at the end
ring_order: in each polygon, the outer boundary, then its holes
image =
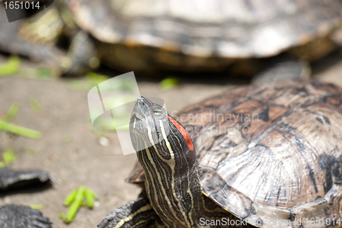
MULTIPOLYGON (((242 86, 190 105, 178 121, 194 140, 202 192, 228 212, 257 227, 341 225, 342 88, 242 86)), ((129 180, 144 181, 139 166, 129 180)))

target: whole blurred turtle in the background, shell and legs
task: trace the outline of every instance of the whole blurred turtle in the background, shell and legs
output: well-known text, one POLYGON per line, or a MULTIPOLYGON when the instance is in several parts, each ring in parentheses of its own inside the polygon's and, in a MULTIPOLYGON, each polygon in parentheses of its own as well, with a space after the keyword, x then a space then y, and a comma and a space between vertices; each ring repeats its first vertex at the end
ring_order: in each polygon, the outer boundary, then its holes
MULTIPOLYGON (((64 24, 57 27, 77 38, 62 61, 63 72, 83 73, 101 60, 118 71, 145 73, 228 70, 250 76, 266 68, 259 78, 267 80, 274 74, 310 75, 306 62, 335 48, 330 34, 341 24, 342 10, 341 0, 59 0, 55 5, 64 9, 53 13, 64 24)), ((20 34, 31 34, 25 39, 47 37, 50 25, 40 25, 38 33, 29 27, 40 17, 23 22, 20 34)), ((49 30, 53 40, 60 39, 59 32, 49 30)))

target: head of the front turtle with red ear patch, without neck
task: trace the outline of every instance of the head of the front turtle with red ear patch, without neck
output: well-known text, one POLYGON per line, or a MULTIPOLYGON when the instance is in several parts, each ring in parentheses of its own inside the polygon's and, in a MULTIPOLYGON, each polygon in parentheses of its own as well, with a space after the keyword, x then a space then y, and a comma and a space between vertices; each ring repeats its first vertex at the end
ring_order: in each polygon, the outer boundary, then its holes
POLYGON ((137 152, 150 147, 162 156, 192 152, 192 159, 196 160, 192 138, 183 125, 169 116, 161 105, 144 97, 135 102, 130 134, 137 152))

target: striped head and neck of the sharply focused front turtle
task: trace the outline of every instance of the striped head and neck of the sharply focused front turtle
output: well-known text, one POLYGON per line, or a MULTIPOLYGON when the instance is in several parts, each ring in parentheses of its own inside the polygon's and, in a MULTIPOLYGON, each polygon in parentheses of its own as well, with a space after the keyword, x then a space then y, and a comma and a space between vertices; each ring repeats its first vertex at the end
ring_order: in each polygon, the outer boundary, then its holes
POLYGON ((130 135, 155 212, 170 227, 194 227, 202 191, 194 144, 183 125, 160 105, 140 97, 131 116, 130 135))

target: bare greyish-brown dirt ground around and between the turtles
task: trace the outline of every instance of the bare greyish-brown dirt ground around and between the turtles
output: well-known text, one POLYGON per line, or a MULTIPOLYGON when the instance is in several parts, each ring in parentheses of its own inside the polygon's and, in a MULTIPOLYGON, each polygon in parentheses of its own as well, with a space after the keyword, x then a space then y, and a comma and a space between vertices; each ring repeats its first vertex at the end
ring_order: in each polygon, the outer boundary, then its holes
MULTIPOLYGON (((313 74, 317 79, 342 86, 341 53, 313 66, 313 74)), ((232 81, 209 84, 209 81, 200 83, 193 79, 191 83, 185 81, 163 91, 157 81, 144 81, 139 75, 135 76, 140 93, 146 97, 160 97, 166 101, 169 112, 239 84, 232 81)), ((96 227, 106 214, 137 197, 140 189, 124 181, 136 161, 135 154, 122 154, 115 132, 107 134, 109 146, 98 142, 98 134, 90 126, 87 94, 86 90, 71 90, 70 79, 0 78, 0 116, 13 102, 18 102, 21 108, 12 123, 42 133, 40 140, 32 140, 13 138, 2 131, 0 151, 12 147, 17 153, 12 168, 41 168, 62 180, 60 184, 53 183, 51 188, 0 194, 0 206, 7 203, 44 204, 46 207, 41 212, 50 218, 53 227, 86 228, 96 227), (37 99, 42 112, 31 109, 30 99, 37 99), (27 153, 27 147, 34 153, 27 153), (66 213, 67 208, 62 205, 64 197, 80 185, 92 188, 98 195, 99 204, 93 210, 81 207, 77 220, 66 225, 58 212, 66 213)))

